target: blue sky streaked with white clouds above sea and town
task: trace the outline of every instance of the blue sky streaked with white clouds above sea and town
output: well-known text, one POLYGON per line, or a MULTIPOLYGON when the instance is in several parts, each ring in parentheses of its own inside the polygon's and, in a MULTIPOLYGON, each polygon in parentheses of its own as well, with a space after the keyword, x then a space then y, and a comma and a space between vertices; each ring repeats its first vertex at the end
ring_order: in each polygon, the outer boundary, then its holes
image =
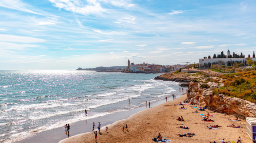
POLYGON ((0 70, 198 63, 256 51, 255 0, 0 0, 0 70))

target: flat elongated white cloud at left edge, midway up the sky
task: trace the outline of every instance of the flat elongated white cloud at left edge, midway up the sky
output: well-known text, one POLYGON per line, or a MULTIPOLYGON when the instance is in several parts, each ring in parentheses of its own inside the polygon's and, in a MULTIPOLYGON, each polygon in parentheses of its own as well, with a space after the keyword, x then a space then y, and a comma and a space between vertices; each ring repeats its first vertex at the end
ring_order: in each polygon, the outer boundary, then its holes
POLYGON ((45 42, 44 39, 17 36, 17 35, 7 35, 7 34, 0 34, 0 41, 21 42, 21 43, 45 42))

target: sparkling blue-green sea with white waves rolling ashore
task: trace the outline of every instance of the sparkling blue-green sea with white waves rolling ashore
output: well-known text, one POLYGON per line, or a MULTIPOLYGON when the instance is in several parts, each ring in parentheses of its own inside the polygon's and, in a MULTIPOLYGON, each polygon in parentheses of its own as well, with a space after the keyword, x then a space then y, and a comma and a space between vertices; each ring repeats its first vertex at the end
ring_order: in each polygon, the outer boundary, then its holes
POLYGON ((159 75, 0 70, 0 143, 146 106, 146 101, 152 105, 179 93, 178 82, 154 80, 159 75))

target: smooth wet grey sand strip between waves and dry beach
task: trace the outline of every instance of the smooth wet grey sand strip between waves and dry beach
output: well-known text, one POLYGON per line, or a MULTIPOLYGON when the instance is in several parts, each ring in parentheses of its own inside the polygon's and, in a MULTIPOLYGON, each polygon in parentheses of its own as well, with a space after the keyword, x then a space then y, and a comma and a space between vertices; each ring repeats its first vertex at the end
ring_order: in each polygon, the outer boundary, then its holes
MULTIPOLYGON (((178 93, 178 94, 176 94, 176 97, 178 98, 181 95, 182 95, 182 93, 178 93)), ((170 99, 170 98, 168 98, 168 99, 170 99)), ((165 99, 154 101, 151 103, 151 107, 161 105, 164 102, 165 102, 165 99)), ((100 121, 102 124, 102 127, 103 127, 103 125, 113 124, 115 121, 127 119, 131 115, 138 113, 140 111, 143 111, 147 108, 148 108, 148 105, 146 107, 145 104, 142 104, 140 107, 137 107, 137 108, 134 108, 134 109, 131 109, 128 111, 114 112, 114 113, 110 113, 108 115, 99 116, 99 117, 92 118, 92 119, 85 119, 85 120, 81 120, 81 121, 72 123, 72 124, 70 124, 71 130, 70 130, 69 138, 72 136, 75 136, 75 135, 84 134, 85 132, 90 132, 92 129, 91 124, 93 122, 98 123, 98 121, 100 121), (73 130, 73 129, 75 129, 75 130, 73 130)), ((31 137, 28 137, 28 138, 25 138, 22 140, 18 140, 15 143, 27 143, 27 142, 34 142, 34 141, 36 141, 37 143, 45 143, 45 142, 56 143, 65 138, 67 138, 67 135, 65 134, 64 125, 63 125, 63 127, 58 127, 58 128, 54 128, 52 130, 39 132, 31 137)))

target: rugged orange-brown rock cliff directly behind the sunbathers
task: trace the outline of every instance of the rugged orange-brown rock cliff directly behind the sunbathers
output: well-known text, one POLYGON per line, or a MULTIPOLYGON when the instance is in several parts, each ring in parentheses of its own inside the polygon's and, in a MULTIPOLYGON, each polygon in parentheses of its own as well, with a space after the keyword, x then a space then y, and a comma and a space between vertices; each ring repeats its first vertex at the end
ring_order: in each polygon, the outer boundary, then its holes
MULTIPOLYGON (((220 83, 221 78, 213 77, 220 83)), ((199 103, 210 110, 227 113, 240 118, 256 117, 256 105, 247 100, 236 97, 227 97, 224 94, 214 94, 214 88, 219 88, 223 84, 207 82, 207 79, 193 80, 188 88, 187 97, 193 103, 199 103), (193 82, 195 81, 195 82, 193 82)))

